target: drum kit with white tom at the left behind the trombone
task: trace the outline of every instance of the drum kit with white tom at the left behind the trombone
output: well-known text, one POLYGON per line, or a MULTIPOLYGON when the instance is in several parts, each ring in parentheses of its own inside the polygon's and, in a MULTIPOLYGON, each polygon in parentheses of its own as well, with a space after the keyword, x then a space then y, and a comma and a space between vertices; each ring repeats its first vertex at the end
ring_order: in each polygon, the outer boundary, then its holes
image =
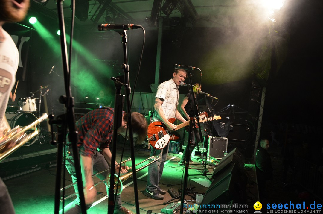
MULTIPOLYGON (((48 86, 49 85, 45 87, 41 86, 41 88, 37 91, 41 90, 42 88, 47 88, 48 86)), ((31 92, 31 97, 19 98, 17 101, 17 105, 8 104, 5 112, 5 118, 7 119, 11 128, 14 128, 17 125, 20 127, 24 127, 37 120, 37 116, 34 114, 38 112, 36 99, 39 98, 34 98, 34 93, 36 93, 37 91, 31 92)), ((40 125, 38 125, 36 128, 39 129, 40 132, 40 125)), ((33 131, 34 130, 28 130, 27 132, 33 131)), ((24 146, 30 146, 34 144, 38 140, 38 137, 39 134, 32 138, 29 142, 24 144, 24 146)))

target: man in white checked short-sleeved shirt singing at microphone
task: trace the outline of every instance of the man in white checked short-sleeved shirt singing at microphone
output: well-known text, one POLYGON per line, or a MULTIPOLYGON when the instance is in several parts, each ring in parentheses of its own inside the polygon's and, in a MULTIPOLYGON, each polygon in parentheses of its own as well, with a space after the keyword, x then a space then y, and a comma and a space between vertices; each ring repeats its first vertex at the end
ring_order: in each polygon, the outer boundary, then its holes
MULTIPOLYGON (((178 87, 186 78, 187 72, 184 69, 174 69, 173 77, 161 83, 158 86, 155 96, 154 114, 151 122, 160 121, 164 123, 169 130, 176 129, 176 125, 170 123, 168 119, 176 117, 178 120, 185 122, 180 112, 177 110, 179 91, 178 87)), ((148 166, 147 185, 144 192, 145 196, 156 200, 164 199, 161 194, 166 194, 166 191, 158 186, 161 179, 164 163, 167 159, 169 144, 163 149, 155 149, 151 147, 151 156, 158 155, 161 157, 158 161, 148 166)))

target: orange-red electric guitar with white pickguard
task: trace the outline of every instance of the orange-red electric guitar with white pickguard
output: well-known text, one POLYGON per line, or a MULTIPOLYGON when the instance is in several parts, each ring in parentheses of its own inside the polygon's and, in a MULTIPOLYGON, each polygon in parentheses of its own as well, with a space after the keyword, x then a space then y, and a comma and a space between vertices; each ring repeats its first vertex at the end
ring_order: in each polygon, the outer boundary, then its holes
MULTIPOLYGON (((200 123, 203 123, 205 121, 210 121, 210 120, 221 120, 221 116, 215 115, 213 117, 205 117, 207 116, 206 112, 202 113, 199 117, 200 123), (204 118, 205 117, 205 118, 204 118)), ((176 118, 170 118, 168 121, 170 123, 174 123, 176 118)), ((164 148, 170 140, 177 140, 179 139, 178 136, 172 134, 172 132, 179 130, 187 125, 190 124, 190 121, 186 121, 184 123, 178 124, 176 126, 176 129, 173 131, 170 131, 166 125, 160 121, 155 121, 149 124, 148 126, 148 141, 151 144, 152 147, 155 149, 162 149, 164 148)))

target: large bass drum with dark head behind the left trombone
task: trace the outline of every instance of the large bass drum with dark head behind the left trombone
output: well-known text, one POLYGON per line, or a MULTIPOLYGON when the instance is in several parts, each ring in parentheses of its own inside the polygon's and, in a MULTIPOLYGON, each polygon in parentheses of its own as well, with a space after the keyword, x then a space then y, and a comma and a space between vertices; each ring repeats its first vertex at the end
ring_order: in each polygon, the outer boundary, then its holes
MULTIPOLYGON (((34 114, 24 113, 24 112, 22 112, 20 114, 17 114, 15 112, 6 112, 5 118, 7 119, 11 128, 14 128, 17 125, 20 127, 27 126, 38 119, 34 114)), ((36 126, 36 129, 38 129, 40 132, 39 125, 36 126)), ((35 131, 35 129, 29 129, 26 131, 26 134, 32 133, 34 131, 35 131)), ((37 134, 35 137, 31 138, 30 141, 28 141, 27 143, 24 144, 24 146, 30 146, 30 145, 34 144, 37 141, 38 136, 39 136, 39 134, 37 134)))

